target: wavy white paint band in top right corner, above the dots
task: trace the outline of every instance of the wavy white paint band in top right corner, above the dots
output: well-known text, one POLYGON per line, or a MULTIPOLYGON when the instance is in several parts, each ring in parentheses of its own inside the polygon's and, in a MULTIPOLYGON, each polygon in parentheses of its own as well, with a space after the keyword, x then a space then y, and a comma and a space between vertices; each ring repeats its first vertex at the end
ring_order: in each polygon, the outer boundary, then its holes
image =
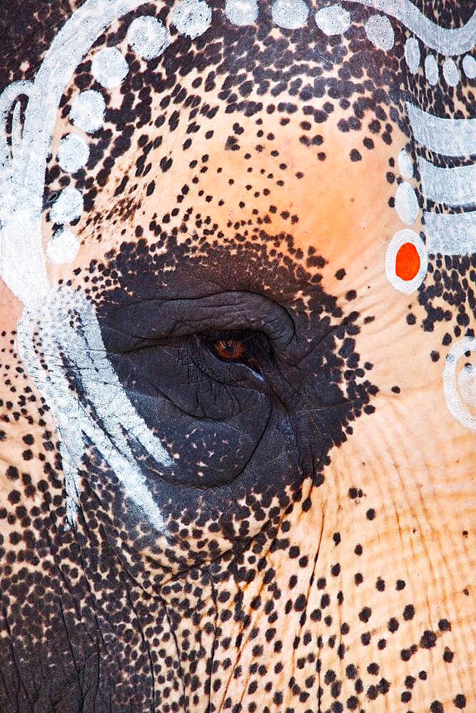
POLYGON ((446 29, 420 12, 410 0, 348 0, 395 17, 417 35, 427 47, 443 55, 472 50, 476 41, 476 10, 462 27, 446 29))

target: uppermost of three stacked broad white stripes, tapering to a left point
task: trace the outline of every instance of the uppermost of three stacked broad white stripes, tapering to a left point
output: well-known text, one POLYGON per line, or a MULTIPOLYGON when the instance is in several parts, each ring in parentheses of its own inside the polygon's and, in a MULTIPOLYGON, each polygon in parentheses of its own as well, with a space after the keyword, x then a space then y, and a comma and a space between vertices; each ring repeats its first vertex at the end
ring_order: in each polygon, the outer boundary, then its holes
POLYGON ((444 156, 476 153, 476 119, 442 119, 405 102, 412 132, 419 143, 444 156))

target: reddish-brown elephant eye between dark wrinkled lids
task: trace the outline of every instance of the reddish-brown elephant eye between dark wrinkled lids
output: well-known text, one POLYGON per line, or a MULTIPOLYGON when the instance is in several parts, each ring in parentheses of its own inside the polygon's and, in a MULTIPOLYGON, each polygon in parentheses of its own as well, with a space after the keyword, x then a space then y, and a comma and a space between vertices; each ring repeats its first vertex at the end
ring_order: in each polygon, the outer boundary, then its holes
POLYGON ((258 374, 261 374, 263 359, 271 363, 270 344, 262 332, 251 329, 205 332, 200 339, 203 346, 221 361, 245 364, 258 374))

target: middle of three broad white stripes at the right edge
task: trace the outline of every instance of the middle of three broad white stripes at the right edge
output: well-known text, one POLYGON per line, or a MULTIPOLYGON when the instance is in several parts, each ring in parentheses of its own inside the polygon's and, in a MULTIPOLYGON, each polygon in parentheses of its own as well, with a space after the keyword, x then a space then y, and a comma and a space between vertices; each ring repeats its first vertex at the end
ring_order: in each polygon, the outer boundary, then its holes
POLYGON ((425 198, 446 205, 476 202, 476 165, 438 168, 420 156, 418 168, 425 198))

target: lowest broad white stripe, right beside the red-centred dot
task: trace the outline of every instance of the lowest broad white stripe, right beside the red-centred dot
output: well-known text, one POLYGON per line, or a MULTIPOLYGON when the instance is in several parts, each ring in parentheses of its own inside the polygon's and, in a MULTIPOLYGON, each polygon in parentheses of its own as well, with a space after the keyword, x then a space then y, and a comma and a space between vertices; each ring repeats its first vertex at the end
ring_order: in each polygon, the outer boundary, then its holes
POLYGON ((424 212, 427 250, 430 255, 472 255, 476 252, 476 211, 468 213, 424 212))

